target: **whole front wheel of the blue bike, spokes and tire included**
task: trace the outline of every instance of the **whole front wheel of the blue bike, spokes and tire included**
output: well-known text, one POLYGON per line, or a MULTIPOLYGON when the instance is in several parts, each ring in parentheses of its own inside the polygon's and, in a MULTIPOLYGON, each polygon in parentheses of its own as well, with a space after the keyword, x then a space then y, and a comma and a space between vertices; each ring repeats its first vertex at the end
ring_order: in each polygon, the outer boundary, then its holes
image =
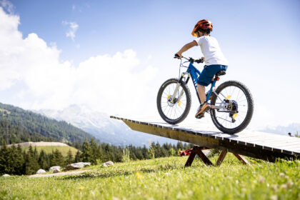
POLYGON ((159 115, 169 124, 178 124, 186 119, 191 109, 191 92, 184 81, 180 82, 175 92, 178 82, 178 79, 166 80, 157 94, 156 104, 159 115))

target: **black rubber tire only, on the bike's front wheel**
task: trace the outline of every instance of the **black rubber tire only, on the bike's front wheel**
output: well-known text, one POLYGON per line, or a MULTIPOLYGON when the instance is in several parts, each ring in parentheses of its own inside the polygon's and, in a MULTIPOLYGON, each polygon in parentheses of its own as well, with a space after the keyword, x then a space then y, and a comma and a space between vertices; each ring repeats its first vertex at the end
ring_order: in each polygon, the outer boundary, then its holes
POLYGON ((188 86, 186 86, 184 81, 180 82, 180 86, 184 89, 184 93, 186 94, 186 107, 184 108, 184 112, 181 114, 181 116, 179 116, 176 119, 170 119, 168 116, 166 116, 166 114, 164 114, 164 111, 161 108, 161 97, 163 95, 164 89, 166 89, 166 87, 169 86, 169 84, 177 84, 178 81, 179 79, 176 78, 164 81, 164 84, 162 84, 159 88, 159 92, 156 98, 156 105, 159 111, 159 115, 162 119, 164 119, 164 121, 166 121, 169 124, 178 124, 181 121, 184 121, 184 119, 186 119, 186 116, 189 114, 189 110, 191 109, 191 92, 189 91, 189 88, 188 86))

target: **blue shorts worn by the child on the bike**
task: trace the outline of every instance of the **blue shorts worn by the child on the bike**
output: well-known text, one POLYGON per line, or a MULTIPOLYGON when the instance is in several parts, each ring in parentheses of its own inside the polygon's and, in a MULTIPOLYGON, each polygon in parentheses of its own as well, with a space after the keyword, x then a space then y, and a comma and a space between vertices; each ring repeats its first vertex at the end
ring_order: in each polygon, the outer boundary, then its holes
POLYGON ((211 64, 209 66, 204 66, 203 71, 198 77, 197 83, 201 86, 208 86, 211 84, 211 79, 218 71, 226 71, 228 66, 221 64, 211 64))

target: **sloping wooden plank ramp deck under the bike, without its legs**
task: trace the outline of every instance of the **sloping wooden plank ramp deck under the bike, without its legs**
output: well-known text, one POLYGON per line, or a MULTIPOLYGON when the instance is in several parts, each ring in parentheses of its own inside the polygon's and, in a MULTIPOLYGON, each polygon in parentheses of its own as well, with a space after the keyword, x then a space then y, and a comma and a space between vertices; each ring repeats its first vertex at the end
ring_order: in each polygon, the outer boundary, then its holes
POLYGON ((300 157, 300 138, 296 137, 259 131, 242 131, 234 135, 220 131, 203 131, 203 127, 199 126, 200 122, 171 125, 157 119, 125 119, 117 116, 111 118, 124 121, 134 131, 186 141, 201 148, 229 151, 237 157, 244 155, 267 161, 300 157))

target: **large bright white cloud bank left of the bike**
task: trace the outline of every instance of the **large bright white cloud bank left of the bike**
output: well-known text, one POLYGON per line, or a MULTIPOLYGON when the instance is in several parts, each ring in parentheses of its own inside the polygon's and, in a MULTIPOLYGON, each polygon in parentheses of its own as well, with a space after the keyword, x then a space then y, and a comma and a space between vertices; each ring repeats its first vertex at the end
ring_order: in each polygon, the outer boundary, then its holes
MULTIPOLYGON (((73 66, 59 61, 56 45, 47 45, 37 34, 22 39, 19 16, 0 8, 0 90, 21 84, 15 94, 26 109, 63 109, 86 104, 109 114, 149 111, 150 85, 156 76, 153 66, 140 68, 136 52, 129 49, 114 55, 92 56, 73 66)), ((152 109, 153 110, 153 109, 152 109)))

